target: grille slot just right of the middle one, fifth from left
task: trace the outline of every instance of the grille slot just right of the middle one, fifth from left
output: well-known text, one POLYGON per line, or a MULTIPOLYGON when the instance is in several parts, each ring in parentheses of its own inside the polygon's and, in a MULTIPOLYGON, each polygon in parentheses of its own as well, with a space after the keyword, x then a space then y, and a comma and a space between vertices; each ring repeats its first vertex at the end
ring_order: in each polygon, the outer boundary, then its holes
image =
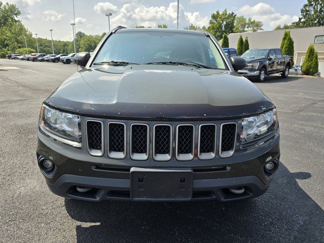
POLYGON ((194 150, 194 126, 178 125, 176 158, 180 161, 192 160, 194 150))

